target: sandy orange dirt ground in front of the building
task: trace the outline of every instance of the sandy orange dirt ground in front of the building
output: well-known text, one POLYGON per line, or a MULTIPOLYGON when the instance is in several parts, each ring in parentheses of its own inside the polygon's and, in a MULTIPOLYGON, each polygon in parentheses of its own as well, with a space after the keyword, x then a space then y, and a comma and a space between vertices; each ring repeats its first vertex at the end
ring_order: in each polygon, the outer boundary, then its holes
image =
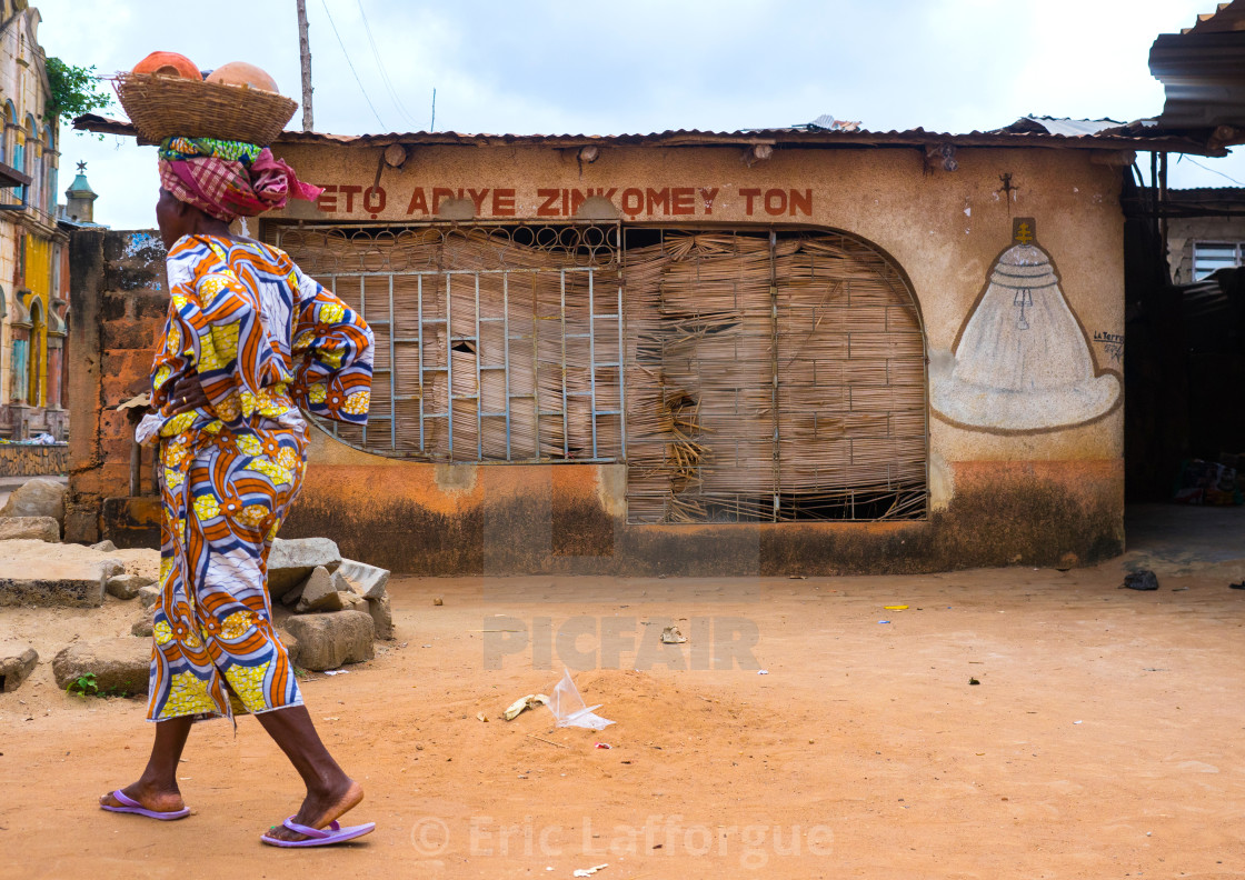
POLYGON ((304 682, 378 828, 308 851, 259 843, 299 785, 253 718, 195 728, 188 819, 98 810, 151 728, 50 661, 137 609, 0 610, 45 661, 0 695, 0 876, 1245 876, 1243 514, 1143 510, 1066 573, 396 580, 397 641, 304 682), (563 665, 615 724, 500 719, 563 665))

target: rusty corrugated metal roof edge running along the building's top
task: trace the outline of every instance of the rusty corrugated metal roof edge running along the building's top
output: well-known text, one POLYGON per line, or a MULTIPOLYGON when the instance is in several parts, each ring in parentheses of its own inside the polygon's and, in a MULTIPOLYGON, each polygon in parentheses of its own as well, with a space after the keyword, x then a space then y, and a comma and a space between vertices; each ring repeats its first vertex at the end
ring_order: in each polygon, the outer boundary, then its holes
MULTIPOLYGON (((1026 117, 1047 118, 1053 117, 1026 117)), ((1015 123, 1013 123, 1015 124, 1015 123)), ((78 131, 101 132, 136 137, 131 123, 122 119, 87 113, 73 119, 78 131)), ((1059 128, 1059 127, 1056 127, 1059 128)), ((1155 134, 1142 123, 1129 123, 1093 133, 1074 133, 1074 127, 1052 132, 1012 127, 996 131, 974 131, 966 134, 930 132, 924 128, 875 132, 867 129, 839 131, 807 127, 763 128, 735 132, 710 132, 698 129, 671 129, 649 134, 463 134, 458 132, 390 132, 387 134, 327 134, 322 132, 285 131, 276 143, 340 144, 359 147, 383 147, 391 143, 423 146, 473 146, 496 147, 533 144, 548 147, 647 146, 647 147, 725 147, 757 146, 776 147, 921 147, 950 143, 956 147, 1047 147, 1064 149, 1130 149, 1194 156, 1225 156, 1223 147, 1208 146, 1204 141, 1185 137, 1178 132, 1155 134)))

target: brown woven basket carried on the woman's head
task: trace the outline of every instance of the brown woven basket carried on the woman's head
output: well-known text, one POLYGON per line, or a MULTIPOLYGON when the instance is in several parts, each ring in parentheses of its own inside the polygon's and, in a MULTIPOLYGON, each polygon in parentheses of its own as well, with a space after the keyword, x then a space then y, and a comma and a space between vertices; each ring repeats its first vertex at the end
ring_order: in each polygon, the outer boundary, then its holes
POLYGON ((214 137, 266 146, 298 102, 247 86, 195 82, 149 73, 117 73, 113 88, 143 141, 214 137))

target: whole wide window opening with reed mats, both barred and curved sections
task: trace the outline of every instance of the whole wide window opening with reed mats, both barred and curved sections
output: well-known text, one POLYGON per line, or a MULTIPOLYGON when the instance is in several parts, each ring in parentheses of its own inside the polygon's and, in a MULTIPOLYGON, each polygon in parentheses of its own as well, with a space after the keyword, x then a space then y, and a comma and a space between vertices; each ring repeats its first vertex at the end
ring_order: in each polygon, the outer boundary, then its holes
POLYGON ((921 519, 925 344, 840 233, 269 225, 372 325, 367 428, 418 461, 627 463, 634 523, 921 519))

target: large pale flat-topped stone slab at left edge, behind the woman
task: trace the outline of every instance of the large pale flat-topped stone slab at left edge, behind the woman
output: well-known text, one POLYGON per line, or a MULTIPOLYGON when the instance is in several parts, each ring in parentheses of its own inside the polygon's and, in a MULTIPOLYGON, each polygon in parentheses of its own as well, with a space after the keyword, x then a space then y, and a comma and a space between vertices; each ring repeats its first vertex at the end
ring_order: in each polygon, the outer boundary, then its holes
POLYGON ((0 605, 98 607, 106 581, 122 571, 120 560, 77 544, 4 541, 0 605))

